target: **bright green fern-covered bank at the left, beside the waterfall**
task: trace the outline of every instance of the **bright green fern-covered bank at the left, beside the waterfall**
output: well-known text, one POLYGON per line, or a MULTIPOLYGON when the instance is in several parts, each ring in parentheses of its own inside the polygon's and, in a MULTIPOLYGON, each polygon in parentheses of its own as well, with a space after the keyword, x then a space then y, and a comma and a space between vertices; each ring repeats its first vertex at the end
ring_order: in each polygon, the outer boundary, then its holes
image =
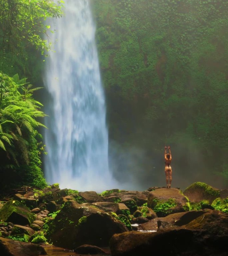
POLYGON ((17 75, 11 78, 0 73, 0 80, 1 186, 5 188, 12 182, 42 188, 46 185, 40 169, 44 146, 38 141, 41 135, 37 129, 45 127, 38 121, 45 114, 40 110, 42 104, 32 97, 39 88, 32 89, 30 84, 24 88, 17 75))

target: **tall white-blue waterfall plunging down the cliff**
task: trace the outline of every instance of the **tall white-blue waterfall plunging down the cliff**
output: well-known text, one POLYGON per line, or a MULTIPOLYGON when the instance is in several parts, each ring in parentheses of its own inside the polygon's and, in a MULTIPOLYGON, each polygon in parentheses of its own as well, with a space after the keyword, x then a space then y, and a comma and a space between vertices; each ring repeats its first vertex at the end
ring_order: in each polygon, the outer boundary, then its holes
POLYGON ((88 0, 65 1, 55 22, 45 84, 49 93, 45 176, 80 191, 109 188, 108 132, 95 26, 88 0))

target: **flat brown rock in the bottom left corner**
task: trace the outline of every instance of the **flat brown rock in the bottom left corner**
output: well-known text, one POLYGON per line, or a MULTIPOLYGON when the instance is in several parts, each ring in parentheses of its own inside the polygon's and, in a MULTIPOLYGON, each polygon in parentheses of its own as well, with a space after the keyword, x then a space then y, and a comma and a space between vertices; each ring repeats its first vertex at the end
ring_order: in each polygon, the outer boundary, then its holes
POLYGON ((14 241, 0 237, 0 252, 2 256, 37 256, 47 255, 39 245, 14 241))

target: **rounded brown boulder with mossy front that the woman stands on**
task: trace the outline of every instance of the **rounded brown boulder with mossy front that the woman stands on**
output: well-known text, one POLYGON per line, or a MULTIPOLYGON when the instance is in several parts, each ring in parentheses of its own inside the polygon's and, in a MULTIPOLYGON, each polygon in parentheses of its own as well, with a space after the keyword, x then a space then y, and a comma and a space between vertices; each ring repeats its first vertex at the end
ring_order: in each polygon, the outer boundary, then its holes
POLYGON ((165 217, 176 212, 189 211, 189 200, 176 188, 160 188, 149 192, 147 206, 158 217, 165 217))

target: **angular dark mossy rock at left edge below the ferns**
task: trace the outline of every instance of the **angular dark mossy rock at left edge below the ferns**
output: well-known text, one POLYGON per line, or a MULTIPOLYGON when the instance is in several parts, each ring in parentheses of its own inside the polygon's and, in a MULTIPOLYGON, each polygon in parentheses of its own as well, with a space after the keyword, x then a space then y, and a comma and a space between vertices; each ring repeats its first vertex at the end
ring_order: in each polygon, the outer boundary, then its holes
POLYGON ((27 225, 35 220, 35 216, 22 203, 10 200, 0 210, 0 220, 18 225, 27 225))

